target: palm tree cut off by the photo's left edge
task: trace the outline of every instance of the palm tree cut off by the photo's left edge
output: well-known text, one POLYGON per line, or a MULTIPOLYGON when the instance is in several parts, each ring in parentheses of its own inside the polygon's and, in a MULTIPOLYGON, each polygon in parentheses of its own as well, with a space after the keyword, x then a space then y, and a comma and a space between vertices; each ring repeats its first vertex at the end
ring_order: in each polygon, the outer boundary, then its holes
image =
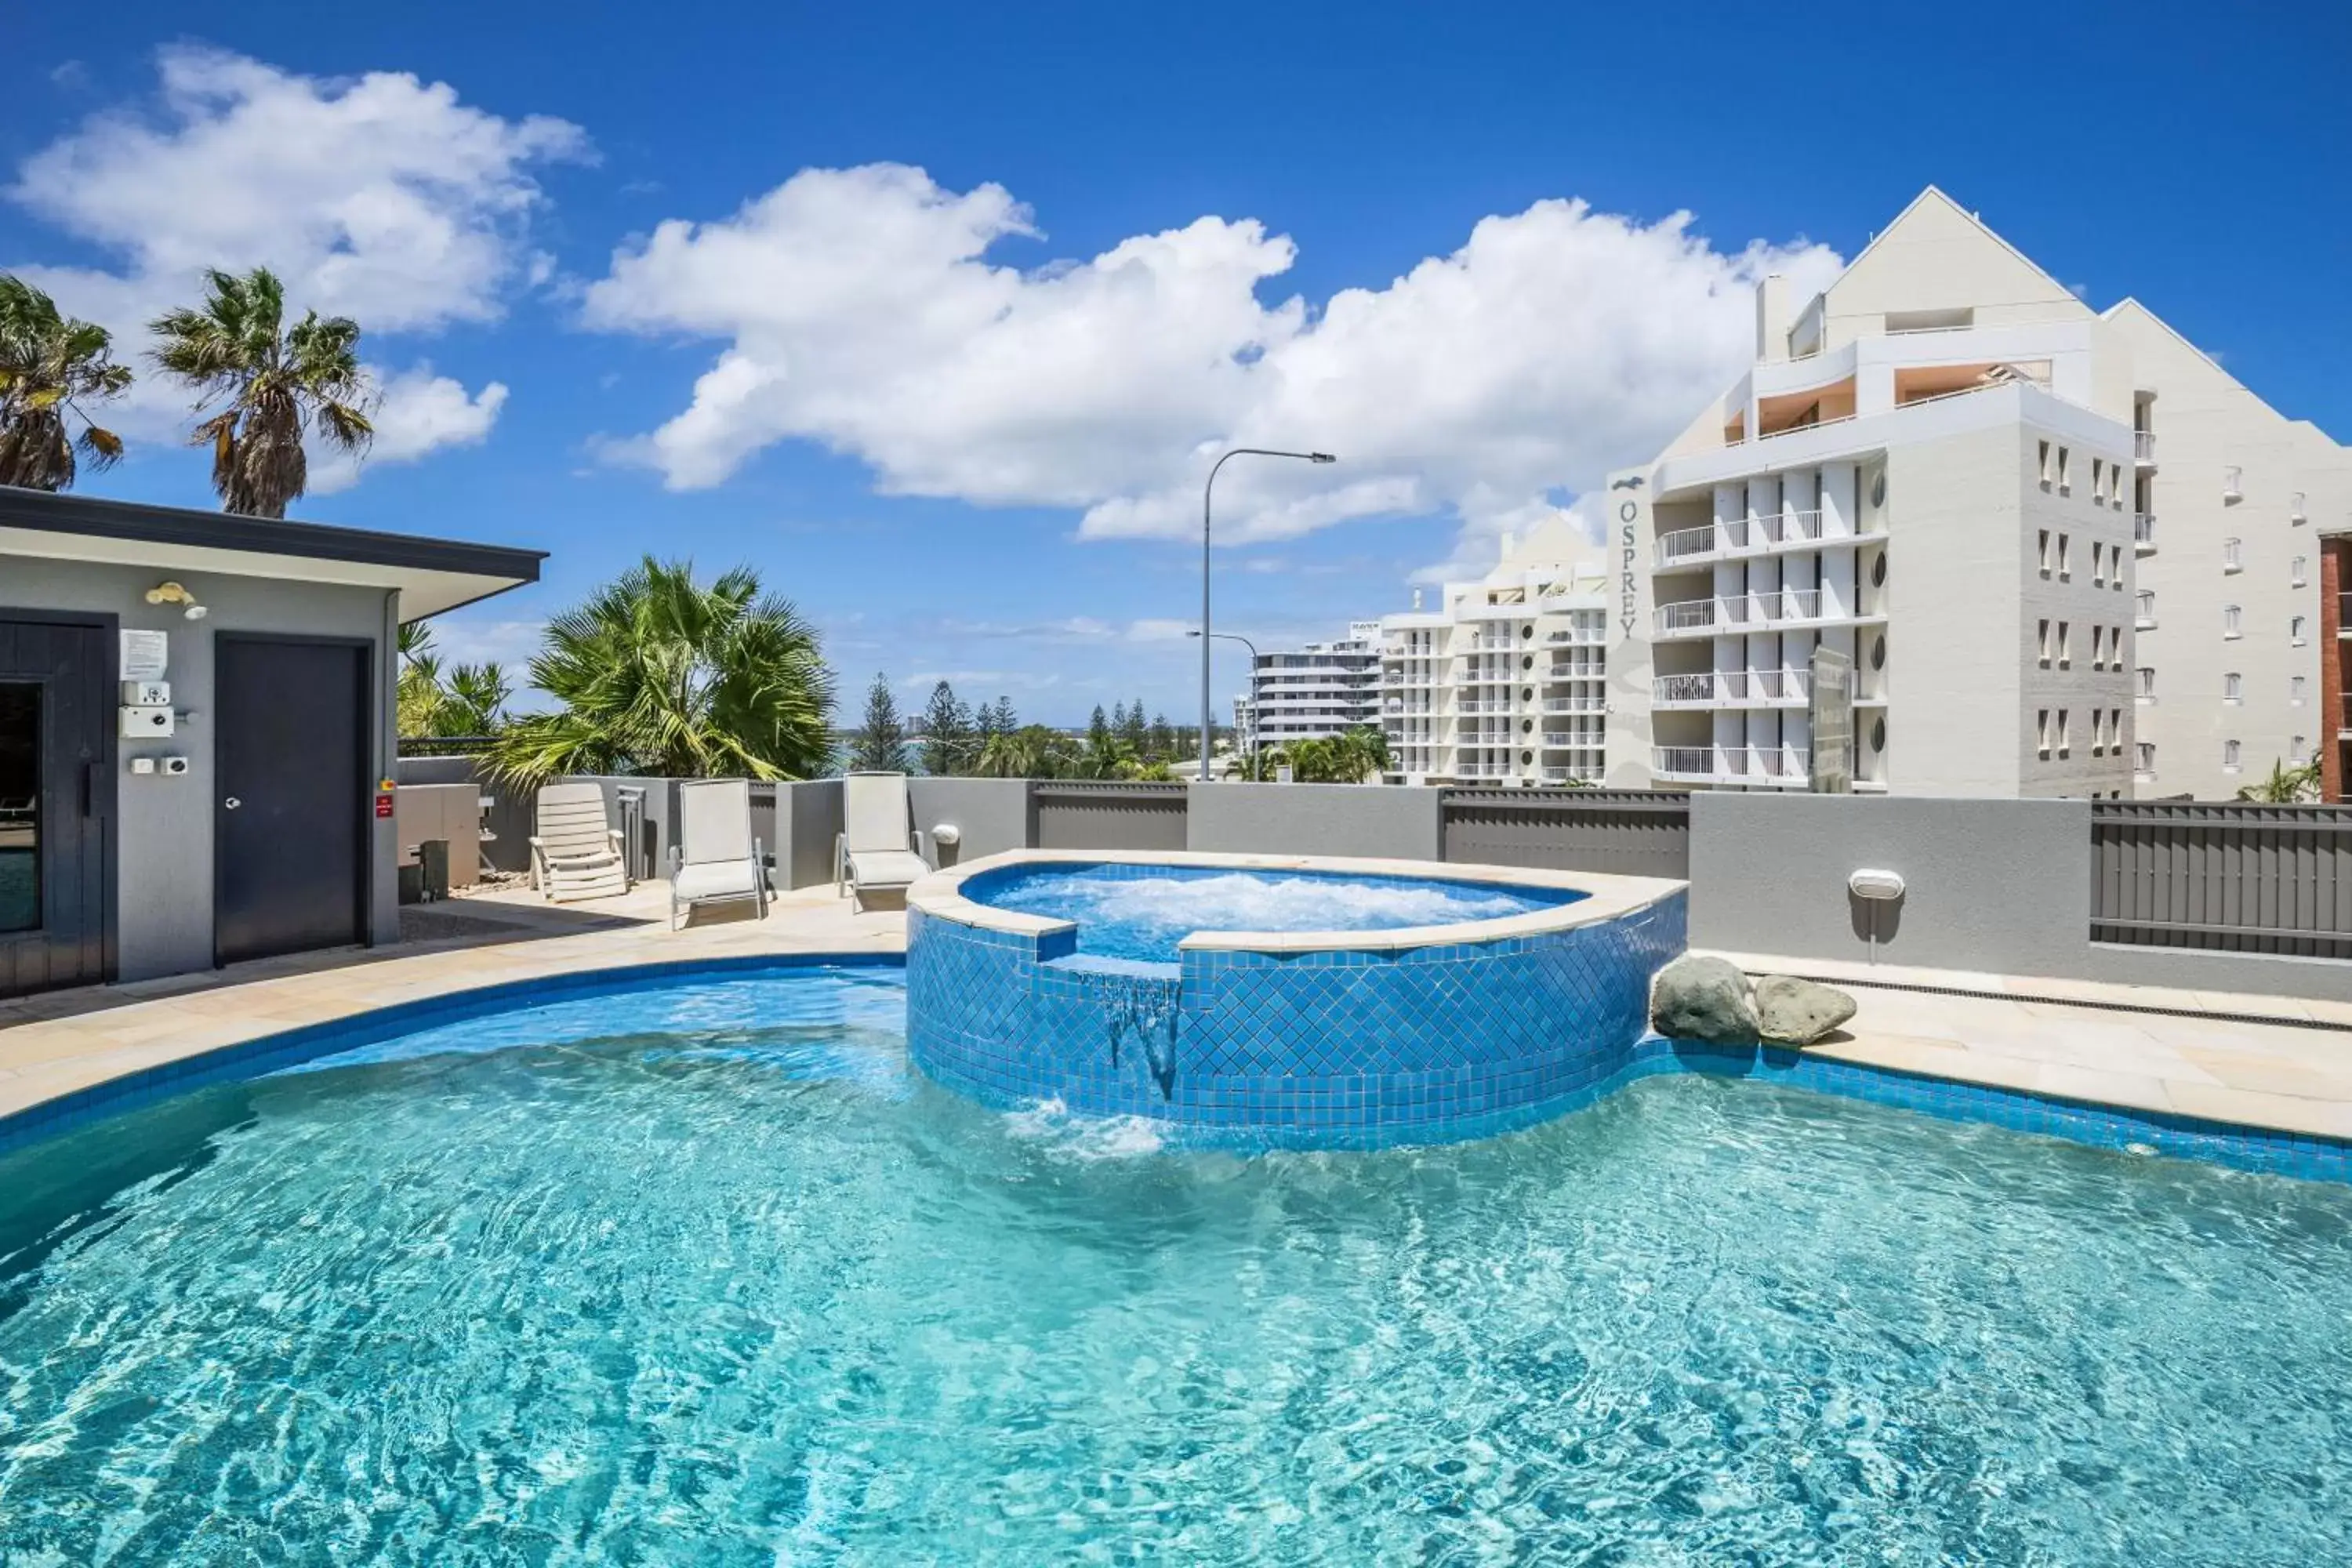
POLYGON ((61 315, 54 299, 0 273, 0 484, 68 489, 75 449, 92 473, 122 461, 122 437, 94 423, 82 400, 120 397, 129 383, 132 367, 113 362, 103 327, 61 315))

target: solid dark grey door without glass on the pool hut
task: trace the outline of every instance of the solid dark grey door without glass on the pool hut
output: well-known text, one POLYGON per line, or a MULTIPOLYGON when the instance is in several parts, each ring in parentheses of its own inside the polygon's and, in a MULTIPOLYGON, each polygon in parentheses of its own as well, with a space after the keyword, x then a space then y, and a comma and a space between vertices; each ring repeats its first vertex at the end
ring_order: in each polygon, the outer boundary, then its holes
POLYGON ((219 635, 214 959, 358 943, 367 910, 369 649, 219 635))

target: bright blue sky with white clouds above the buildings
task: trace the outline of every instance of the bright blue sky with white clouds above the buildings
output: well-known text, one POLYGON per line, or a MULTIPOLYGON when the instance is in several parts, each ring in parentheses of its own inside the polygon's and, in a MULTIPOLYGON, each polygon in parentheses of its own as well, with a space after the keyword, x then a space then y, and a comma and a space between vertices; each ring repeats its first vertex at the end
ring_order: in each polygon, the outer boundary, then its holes
MULTIPOLYGON (((358 315, 386 440, 299 515, 555 552, 459 654, 654 548, 755 564, 849 696, 1183 717, 1216 442, 1345 458, 1218 482, 1221 628, 1402 609, 1672 435, 1755 273, 1931 181, 2352 435, 2352 14, 2209 16, 129 2, 99 54, 40 7, 0 268, 129 324, 266 261, 358 315)), ((85 489, 212 505, 176 414, 85 489)))

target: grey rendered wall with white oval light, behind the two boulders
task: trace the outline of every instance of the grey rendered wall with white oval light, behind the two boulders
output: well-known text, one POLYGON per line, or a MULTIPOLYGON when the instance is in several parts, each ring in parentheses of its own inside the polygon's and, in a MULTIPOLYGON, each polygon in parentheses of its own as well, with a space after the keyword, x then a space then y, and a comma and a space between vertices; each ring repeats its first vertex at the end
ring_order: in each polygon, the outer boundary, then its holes
POLYGON ((1860 867, 1900 872, 1879 961, 2352 1001, 2352 961, 2091 940, 2091 804, 1691 795, 1691 945, 1870 959, 1860 867))

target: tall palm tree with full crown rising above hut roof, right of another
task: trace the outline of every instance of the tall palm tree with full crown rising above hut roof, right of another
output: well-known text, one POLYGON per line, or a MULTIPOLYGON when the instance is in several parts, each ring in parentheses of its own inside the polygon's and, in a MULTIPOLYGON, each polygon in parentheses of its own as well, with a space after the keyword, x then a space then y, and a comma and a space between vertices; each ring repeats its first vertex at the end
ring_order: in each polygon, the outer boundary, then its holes
POLYGON ((191 444, 212 447, 212 489, 221 510, 285 517, 310 480, 303 435, 336 451, 365 454, 374 390, 360 369, 360 324, 306 310, 285 324, 285 284, 268 268, 245 277, 205 273, 200 310, 167 310, 148 322, 162 339, 158 369, 195 390, 202 414, 191 444))

